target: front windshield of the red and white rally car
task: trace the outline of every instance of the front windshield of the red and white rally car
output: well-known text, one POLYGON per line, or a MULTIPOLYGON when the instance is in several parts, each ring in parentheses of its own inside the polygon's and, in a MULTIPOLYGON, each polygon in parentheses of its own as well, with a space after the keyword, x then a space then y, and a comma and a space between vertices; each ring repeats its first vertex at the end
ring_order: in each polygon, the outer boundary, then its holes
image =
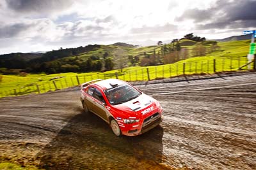
POLYGON ((131 85, 118 85, 108 90, 104 90, 111 105, 122 104, 140 96, 141 93, 131 85))

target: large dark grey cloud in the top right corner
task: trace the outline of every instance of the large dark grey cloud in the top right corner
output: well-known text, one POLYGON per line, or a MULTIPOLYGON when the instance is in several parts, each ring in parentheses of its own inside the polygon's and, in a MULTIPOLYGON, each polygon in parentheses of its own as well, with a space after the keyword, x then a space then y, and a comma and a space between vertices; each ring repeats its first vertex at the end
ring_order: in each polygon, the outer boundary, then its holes
POLYGON ((237 29, 256 27, 256 1, 217 1, 207 10, 185 11, 176 20, 193 19, 196 29, 237 29), (204 22, 207 21, 207 24, 204 22))

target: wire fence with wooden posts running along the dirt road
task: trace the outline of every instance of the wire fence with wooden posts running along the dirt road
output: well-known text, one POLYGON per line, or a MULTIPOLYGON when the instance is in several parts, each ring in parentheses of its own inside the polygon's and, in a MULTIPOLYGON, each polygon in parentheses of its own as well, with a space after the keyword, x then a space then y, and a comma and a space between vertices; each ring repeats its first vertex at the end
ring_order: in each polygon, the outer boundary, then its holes
POLYGON ((73 77, 52 78, 51 81, 38 81, 37 83, 17 86, 15 89, 2 90, 0 92, 0 97, 20 96, 24 94, 42 94, 55 90, 67 89, 69 87, 76 87, 81 83, 95 79, 118 78, 124 81, 148 81, 189 74, 213 74, 224 71, 253 69, 254 66, 246 65, 247 63, 248 60, 246 57, 230 57, 230 59, 223 58, 204 60, 200 62, 181 61, 175 64, 149 66, 116 73, 93 73, 89 75, 77 74, 73 77))

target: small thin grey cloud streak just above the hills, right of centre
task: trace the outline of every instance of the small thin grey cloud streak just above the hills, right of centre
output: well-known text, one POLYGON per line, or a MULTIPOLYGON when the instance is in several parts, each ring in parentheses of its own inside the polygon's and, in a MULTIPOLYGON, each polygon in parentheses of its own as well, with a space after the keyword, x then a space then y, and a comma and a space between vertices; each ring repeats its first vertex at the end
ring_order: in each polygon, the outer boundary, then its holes
POLYGON ((154 32, 170 32, 170 31, 177 31, 177 25, 166 24, 163 26, 160 26, 160 25, 156 25, 153 27, 143 26, 140 28, 131 29, 131 32, 134 34, 147 34, 147 33, 154 33, 154 32))

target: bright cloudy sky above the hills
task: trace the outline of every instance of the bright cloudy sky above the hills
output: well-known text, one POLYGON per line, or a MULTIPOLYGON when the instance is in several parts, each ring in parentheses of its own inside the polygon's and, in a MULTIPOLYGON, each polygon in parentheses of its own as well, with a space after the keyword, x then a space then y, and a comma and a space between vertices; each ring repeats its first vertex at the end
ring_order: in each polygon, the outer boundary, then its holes
POLYGON ((0 0, 0 54, 116 42, 156 45, 193 33, 256 29, 256 0, 0 0))

